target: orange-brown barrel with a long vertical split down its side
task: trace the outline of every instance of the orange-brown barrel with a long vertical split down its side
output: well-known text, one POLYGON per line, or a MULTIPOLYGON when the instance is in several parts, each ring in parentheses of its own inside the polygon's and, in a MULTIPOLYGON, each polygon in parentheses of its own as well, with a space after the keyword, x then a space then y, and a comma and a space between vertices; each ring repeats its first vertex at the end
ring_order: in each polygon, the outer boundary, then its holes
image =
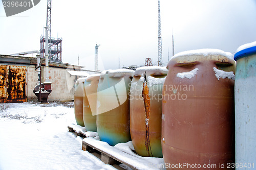
POLYGON ((130 132, 137 154, 162 157, 162 87, 166 67, 148 66, 134 72, 130 90, 130 132))

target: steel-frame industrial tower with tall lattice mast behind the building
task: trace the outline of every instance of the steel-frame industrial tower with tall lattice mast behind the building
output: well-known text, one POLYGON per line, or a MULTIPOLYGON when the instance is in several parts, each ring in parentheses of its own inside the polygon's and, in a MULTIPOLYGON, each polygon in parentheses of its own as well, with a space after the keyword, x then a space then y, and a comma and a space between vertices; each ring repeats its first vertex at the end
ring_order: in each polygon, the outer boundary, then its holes
MULTIPOLYGON (((49 46, 49 60, 55 62, 62 62, 62 38, 52 38, 52 0, 47 1, 47 16, 46 27, 48 27, 48 46, 49 46)), ((46 38, 41 36, 40 38, 40 53, 42 57, 45 57, 45 45, 46 38)))

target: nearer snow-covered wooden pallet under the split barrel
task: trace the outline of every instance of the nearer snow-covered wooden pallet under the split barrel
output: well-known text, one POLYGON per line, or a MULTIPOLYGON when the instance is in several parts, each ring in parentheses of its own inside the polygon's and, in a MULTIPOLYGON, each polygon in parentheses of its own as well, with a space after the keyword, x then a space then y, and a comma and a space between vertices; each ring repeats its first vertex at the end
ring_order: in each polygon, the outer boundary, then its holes
POLYGON ((123 163, 132 169, 138 170, 159 169, 156 168, 157 165, 142 159, 142 157, 140 158, 140 156, 125 153, 116 147, 110 146, 106 142, 102 142, 91 137, 83 139, 82 150, 92 153, 105 164, 113 165, 123 163))

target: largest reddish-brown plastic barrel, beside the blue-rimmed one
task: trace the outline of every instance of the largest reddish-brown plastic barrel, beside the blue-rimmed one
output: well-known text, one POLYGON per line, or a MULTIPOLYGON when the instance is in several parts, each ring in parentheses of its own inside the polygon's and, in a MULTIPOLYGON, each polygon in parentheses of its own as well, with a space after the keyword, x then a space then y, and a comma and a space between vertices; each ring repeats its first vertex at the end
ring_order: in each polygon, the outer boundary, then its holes
POLYGON ((162 100, 167 169, 230 169, 236 69, 232 54, 216 49, 182 52, 170 59, 167 69, 162 100))

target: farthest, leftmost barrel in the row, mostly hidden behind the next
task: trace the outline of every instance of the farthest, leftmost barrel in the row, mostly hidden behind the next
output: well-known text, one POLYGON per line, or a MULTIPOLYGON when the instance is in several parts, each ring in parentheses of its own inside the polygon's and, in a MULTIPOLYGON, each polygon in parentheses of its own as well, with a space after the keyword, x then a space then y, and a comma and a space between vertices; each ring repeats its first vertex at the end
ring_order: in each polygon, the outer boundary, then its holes
POLYGON ((83 83, 85 79, 86 78, 79 78, 75 83, 75 94, 74 94, 75 119, 76 119, 77 125, 80 125, 80 126, 84 126, 82 100, 84 96, 83 83))

